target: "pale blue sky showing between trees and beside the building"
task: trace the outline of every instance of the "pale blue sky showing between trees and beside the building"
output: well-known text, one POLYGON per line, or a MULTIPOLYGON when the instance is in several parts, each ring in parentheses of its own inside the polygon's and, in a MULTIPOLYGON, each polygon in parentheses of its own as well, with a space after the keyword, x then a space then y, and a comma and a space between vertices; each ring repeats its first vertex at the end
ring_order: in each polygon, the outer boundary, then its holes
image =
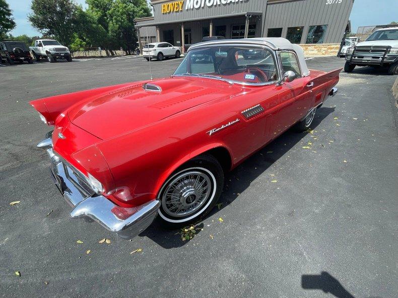
MULTIPOLYGON (((31 0, 6 1, 13 10, 13 16, 17 23, 17 27, 11 34, 14 36, 22 34, 40 36, 41 34, 32 28, 27 20, 27 15, 31 13, 31 0)), ((81 4, 84 8, 87 7, 85 0, 75 0, 75 2, 81 4)), ((352 32, 357 32, 359 26, 384 25, 390 22, 398 22, 397 12, 398 0, 355 0, 350 16, 352 32)))

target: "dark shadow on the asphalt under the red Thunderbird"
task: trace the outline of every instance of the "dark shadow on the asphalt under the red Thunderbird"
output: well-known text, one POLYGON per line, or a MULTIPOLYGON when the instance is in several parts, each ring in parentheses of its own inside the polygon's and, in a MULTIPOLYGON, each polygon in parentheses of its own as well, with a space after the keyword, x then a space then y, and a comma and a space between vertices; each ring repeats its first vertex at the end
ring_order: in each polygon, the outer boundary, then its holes
MULTIPOLYGON (((329 114, 333 113, 335 108, 321 107, 311 124, 311 129, 316 129, 320 122, 329 114)), ((234 170, 225 175, 224 190, 221 194, 219 204, 206 216, 210 217, 218 213, 220 210, 227 208, 247 187, 250 183, 266 171, 275 161, 285 155, 291 148, 296 146, 308 132, 297 133, 288 130, 273 142, 263 147, 253 154, 234 170), (271 152, 272 153, 267 153, 271 152)), ((203 227, 201 222, 195 224, 195 227, 203 227)), ((196 234, 200 233, 198 230, 196 234)), ((139 236, 146 236, 156 242, 163 248, 181 247, 190 240, 181 240, 181 230, 167 230, 161 226, 159 221, 155 221, 148 229, 143 231, 139 236)))

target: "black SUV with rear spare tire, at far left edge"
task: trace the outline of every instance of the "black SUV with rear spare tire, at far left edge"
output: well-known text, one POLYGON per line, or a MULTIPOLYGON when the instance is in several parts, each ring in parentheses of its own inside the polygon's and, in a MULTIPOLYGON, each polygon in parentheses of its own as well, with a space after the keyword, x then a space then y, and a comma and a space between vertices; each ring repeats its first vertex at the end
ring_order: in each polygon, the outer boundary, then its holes
POLYGON ((0 63, 3 60, 10 64, 14 64, 15 61, 19 61, 21 64, 24 61, 28 61, 30 64, 33 63, 29 48, 21 41, 0 41, 0 63))

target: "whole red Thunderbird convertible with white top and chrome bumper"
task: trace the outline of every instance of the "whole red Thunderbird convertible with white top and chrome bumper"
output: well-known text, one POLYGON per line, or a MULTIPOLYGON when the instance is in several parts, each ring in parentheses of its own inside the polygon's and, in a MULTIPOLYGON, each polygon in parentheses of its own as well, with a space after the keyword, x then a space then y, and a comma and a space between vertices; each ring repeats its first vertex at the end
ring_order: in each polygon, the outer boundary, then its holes
POLYGON ((37 147, 72 218, 125 239, 157 215, 187 225, 215 206, 227 171, 290 127, 310 127, 340 71, 308 70, 283 38, 195 44, 168 78, 30 102, 54 126, 37 147))

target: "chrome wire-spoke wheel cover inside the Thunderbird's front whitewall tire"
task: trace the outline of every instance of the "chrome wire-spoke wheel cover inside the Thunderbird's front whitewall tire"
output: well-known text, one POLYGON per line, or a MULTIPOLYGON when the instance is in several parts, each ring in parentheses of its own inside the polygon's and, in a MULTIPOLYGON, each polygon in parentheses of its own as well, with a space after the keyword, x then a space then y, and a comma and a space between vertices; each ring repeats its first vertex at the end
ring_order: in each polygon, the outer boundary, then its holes
POLYGON ((172 178, 162 195, 164 211, 184 217, 200 210, 210 196, 210 178, 200 171, 181 173, 172 178))

